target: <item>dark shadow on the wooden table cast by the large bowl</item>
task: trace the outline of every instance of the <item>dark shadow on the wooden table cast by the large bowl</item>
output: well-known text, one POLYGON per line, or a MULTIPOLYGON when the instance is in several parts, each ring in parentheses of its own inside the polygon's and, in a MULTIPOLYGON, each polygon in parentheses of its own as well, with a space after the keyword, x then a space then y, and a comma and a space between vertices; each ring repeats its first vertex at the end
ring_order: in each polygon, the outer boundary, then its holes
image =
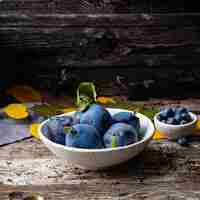
POLYGON ((97 175, 105 179, 136 178, 142 181, 152 176, 162 176, 176 170, 176 151, 167 151, 166 148, 146 148, 133 159, 114 167, 99 170, 98 172, 83 171, 84 176, 97 175), (86 172, 86 173, 85 173, 86 172), (86 175, 87 174, 87 175, 86 175))

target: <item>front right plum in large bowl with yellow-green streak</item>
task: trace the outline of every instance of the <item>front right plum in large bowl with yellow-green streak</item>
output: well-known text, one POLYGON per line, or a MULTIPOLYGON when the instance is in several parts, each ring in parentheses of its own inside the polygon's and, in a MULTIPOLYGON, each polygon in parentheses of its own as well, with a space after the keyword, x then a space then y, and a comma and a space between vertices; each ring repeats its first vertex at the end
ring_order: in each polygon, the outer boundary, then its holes
POLYGON ((129 145, 138 141, 138 132, 129 124, 115 123, 106 131, 103 141, 106 148, 129 145))

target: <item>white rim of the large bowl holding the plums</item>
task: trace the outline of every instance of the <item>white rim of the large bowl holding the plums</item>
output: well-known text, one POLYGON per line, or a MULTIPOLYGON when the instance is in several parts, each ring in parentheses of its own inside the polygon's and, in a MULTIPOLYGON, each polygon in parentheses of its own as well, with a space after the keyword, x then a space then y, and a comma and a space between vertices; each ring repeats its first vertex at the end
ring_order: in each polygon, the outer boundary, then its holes
MULTIPOLYGON (((121 109, 121 108, 110 108, 110 107, 106 107, 107 110, 110 110, 110 111, 114 111, 114 110, 118 110, 118 112, 134 112, 134 111, 131 111, 131 110, 127 110, 127 109, 121 109)), ((62 116, 68 116, 68 115, 72 115, 73 113, 75 113, 75 111, 72 111, 72 112, 68 112, 68 113, 64 113, 64 114, 60 114, 60 115, 54 115, 53 117, 62 117, 62 116)), ((144 142, 147 142, 149 141, 153 135, 154 135, 154 132, 155 132, 155 127, 154 127, 154 124, 153 122, 151 121, 151 119, 149 119, 147 116, 141 114, 141 113, 138 113, 138 112, 134 112, 136 114, 136 116, 138 117, 143 117, 145 118, 147 121, 148 121, 148 124, 150 125, 150 128, 151 128, 151 132, 149 134, 147 134, 146 136, 144 136, 140 141, 138 142, 135 142, 133 144, 129 144, 129 145, 126 145, 126 146, 120 146, 120 147, 116 147, 116 148, 102 148, 102 149, 84 149, 84 148, 76 148, 76 147, 67 147, 67 146, 64 146, 62 144, 57 144, 51 140, 49 140, 47 137, 45 137, 42 133, 42 127, 50 120, 50 118, 46 119, 45 121, 43 121, 40 125, 39 125, 39 130, 38 130, 38 133, 39 133, 39 137, 40 139, 42 140, 43 143, 45 144, 51 144, 52 146, 55 146, 57 148, 62 148, 62 149, 65 149, 67 151, 72 151, 72 152, 87 152, 87 153, 95 153, 95 152, 110 152, 110 151, 120 151, 120 150, 125 150, 125 149, 129 149, 131 147, 134 147, 134 146, 137 146, 139 144, 142 144, 144 142)))

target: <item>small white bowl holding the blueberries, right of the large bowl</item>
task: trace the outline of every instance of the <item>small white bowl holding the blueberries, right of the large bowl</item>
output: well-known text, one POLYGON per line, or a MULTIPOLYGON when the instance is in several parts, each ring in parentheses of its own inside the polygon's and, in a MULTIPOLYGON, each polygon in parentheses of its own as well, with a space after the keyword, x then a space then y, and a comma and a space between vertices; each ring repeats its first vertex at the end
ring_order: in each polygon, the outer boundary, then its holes
POLYGON ((161 112, 157 113, 154 116, 154 124, 157 130, 161 133, 164 133, 168 139, 176 140, 180 137, 189 136, 192 133, 192 130, 196 127, 197 116, 189 112, 192 121, 186 124, 174 125, 174 124, 166 124, 158 120, 158 115, 161 112))

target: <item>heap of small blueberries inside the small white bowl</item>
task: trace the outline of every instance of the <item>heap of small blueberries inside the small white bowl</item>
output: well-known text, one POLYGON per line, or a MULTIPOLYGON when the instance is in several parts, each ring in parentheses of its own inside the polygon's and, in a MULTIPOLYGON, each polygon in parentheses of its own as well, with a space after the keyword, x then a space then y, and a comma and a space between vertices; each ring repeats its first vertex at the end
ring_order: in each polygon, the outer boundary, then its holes
POLYGON ((184 107, 163 108, 157 119, 166 124, 180 125, 192 121, 189 110, 184 107))

